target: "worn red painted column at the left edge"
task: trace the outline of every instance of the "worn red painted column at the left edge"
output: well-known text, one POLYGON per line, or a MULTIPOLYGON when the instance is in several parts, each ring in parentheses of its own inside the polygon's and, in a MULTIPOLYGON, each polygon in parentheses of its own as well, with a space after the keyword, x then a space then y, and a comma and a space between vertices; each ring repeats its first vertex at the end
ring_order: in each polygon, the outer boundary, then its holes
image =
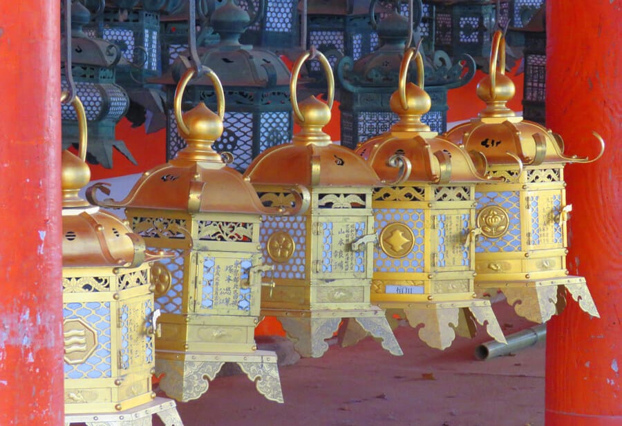
POLYGON ((0 1, 0 425, 64 420, 59 1, 0 1))

